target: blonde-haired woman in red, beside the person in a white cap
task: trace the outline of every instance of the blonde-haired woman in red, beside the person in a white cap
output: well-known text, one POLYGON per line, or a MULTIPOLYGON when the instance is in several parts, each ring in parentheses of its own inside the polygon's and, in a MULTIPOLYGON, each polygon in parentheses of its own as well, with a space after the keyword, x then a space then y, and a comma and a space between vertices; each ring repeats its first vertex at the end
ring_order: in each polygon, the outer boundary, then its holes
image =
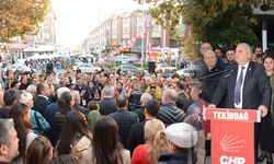
POLYGON ((159 119, 150 119, 145 125, 146 143, 134 150, 132 164, 156 164, 162 153, 168 151, 164 125, 159 119))

